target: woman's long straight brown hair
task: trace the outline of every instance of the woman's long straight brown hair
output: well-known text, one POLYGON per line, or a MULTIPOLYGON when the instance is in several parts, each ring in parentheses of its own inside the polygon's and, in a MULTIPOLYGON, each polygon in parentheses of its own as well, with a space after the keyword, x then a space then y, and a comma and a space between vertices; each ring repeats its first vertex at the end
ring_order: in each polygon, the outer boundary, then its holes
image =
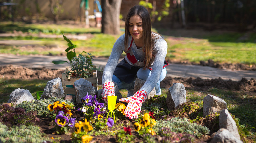
POLYGON ((139 15, 142 19, 142 36, 143 36, 143 44, 145 47, 144 52, 144 69, 149 68, 151 63, 153 62, 153 55, 154 55, 154 44, 155 38, 151 32, 151 19, 148 10, 143 6, 133 6, 126 17, 125 20, 125 37, 124 37, 124 49, 127 51, 129 47, 128 38, 131 36, 129 32, 129 20, 132 16, 139 15))

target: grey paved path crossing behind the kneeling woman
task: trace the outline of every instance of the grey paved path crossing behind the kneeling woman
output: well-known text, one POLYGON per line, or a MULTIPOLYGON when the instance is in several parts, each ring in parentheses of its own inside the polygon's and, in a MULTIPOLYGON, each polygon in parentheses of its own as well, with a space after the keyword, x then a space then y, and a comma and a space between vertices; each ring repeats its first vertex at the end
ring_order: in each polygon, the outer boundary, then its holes
MULTIPOLYGON (((27 68, 49 68, 49 69, 65 69, 68 63, 55 65, 51 63, 53 60, 67 60, 66 56, 47 56, 47 55, 10 55, 0 54, 0 66, 12 64, 27 68)), ((104 68, 107 58, 94 57, 93 63, 97 68, 104 68)), ((239 81, 242 78, 256 79, 256 71, 249 70, 230 70, 218 69, 200 65, 184 65, 169 63, 167 66, 167 76, 171 77, 200 77, 202 79, 215 79, 221 77, 223 80, 239 81)))

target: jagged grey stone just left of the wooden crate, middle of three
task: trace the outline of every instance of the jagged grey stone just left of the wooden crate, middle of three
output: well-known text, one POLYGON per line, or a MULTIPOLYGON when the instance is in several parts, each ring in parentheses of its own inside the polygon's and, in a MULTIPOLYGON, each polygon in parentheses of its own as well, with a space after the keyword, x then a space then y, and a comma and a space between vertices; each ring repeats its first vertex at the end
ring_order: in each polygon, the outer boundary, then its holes
POLYGON ((64 97, 64 90, 62 88, 61 79, 55 78, 47 82, 46 86, 44 87, 44 92, 41 95, 40 99, 48 99, 51 97, 62 98, 64 97))

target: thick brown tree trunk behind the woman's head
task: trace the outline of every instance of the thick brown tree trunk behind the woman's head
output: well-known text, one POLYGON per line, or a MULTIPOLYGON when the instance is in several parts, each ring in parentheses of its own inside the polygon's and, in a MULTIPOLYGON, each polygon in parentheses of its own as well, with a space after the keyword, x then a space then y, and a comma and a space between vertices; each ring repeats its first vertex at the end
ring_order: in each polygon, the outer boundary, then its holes
POLYGON ((120 9, 122 0, 101 0, 101 32, 105 34, 120 33, 120 9))

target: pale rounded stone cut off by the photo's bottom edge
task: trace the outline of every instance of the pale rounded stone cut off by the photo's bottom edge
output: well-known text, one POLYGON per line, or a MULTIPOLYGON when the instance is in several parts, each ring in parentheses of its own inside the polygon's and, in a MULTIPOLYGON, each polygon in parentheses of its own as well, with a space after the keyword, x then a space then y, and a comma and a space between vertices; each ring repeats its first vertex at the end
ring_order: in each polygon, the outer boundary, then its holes
POLYGON ((221 128, 214 135, 210 143, 243 143, 243 142, 237 139, 227 129, 221 128))

